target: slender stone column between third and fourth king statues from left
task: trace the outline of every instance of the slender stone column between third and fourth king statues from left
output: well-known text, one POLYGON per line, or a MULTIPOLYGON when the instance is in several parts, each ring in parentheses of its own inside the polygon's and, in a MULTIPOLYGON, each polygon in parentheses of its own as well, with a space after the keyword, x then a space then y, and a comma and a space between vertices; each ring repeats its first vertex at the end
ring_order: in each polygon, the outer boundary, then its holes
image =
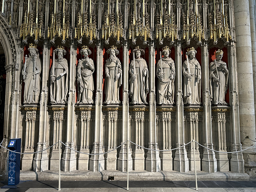
MULTIPOLYGON (((97 45, 96 62, 96 99, 95 99, 95 129, 92 154, 102 153, 102 76, 103 76, 103 47, 97 45)), ((104 170, 104 155, 92 155, 89 159, 90 171, 104 170)))

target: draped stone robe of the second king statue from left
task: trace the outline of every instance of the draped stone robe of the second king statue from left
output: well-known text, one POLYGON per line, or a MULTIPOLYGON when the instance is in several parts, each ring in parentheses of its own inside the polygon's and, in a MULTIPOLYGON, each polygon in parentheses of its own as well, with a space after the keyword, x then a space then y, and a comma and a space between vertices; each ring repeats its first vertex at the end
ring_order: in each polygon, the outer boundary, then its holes
MULTIPOLYGON (((67 102, 68 94, 68 61, 65 58, 54 61, 55 81, 50 79, 50 99, 52 104, 65 104, 67 102), (64 73, 62 77, 61 73, 64 73)), ((50 75, 53 75, 53 68, 50 75)))

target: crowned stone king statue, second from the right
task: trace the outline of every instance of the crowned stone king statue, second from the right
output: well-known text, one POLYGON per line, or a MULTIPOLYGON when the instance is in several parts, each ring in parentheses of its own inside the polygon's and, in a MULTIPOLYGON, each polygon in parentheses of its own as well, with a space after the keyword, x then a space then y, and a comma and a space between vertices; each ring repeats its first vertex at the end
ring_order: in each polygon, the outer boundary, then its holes
POLYGON ((184 104, 201 104, 201 66, 195 55, 194 47, 189 48, 182 64, 184 104))

